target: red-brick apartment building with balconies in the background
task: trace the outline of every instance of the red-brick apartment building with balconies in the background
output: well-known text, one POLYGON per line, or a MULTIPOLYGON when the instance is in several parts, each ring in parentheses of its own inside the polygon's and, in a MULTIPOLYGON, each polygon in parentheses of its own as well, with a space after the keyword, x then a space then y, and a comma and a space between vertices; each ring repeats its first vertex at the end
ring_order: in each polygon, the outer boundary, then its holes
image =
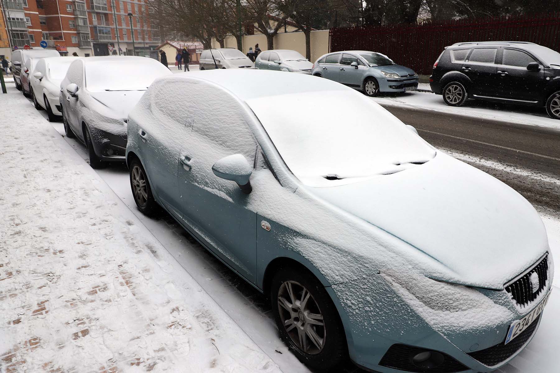
MULTIPOLYGON (((61 55, 155 54, 160 39, 157 30, 151 28, 146 3, 147 0, 0 0, 0 26, 10 36, 4 46, 9 50, 0 50, 0 55, 10 58, 11 50, 25 45, 40 48, 43 40, 47 48, 57 49, 61 55)), ((0 32, 0 48, 2 35, 0 32)))

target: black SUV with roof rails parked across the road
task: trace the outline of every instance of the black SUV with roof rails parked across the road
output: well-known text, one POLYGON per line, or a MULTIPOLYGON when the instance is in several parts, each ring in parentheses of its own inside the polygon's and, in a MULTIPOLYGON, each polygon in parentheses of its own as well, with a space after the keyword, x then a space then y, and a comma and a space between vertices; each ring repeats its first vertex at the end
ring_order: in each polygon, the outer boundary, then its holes
POLYGON ((524 41, 456 43, 433 64, 430 87, 450 106, 467 99, 545 106, 560 119, 560 53, 524 41))

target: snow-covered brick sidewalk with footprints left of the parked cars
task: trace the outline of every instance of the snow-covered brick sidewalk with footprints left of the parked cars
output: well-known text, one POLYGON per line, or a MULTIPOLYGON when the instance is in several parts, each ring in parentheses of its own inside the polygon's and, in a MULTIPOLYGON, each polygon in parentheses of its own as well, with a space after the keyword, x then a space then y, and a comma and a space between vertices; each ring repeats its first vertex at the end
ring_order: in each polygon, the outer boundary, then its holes
POLYGON ((0 100, 1 371, 279 371, 15 87, 0 100))

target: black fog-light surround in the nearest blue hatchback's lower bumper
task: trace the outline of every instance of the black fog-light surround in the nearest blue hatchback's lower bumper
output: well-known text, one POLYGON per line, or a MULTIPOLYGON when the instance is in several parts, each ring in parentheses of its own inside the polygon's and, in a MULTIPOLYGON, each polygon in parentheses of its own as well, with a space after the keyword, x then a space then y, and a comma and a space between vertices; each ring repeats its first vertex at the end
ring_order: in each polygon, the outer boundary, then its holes
MULTIPOLYGON (((521 334, 517 338, 520 338, 521 334)), ((444 361, 440 365, 430 370, 419 368, 412 362, 412 357, 417 353, 421 353, 424 351, 429 350, 408 346, 407 344, 396 343, 393 344, 393 346, 389 347, 387 352, 385 352, 385 355, 383 355, 383 357, 381 358, 379 365, 392 369, 418 373, 428 371, 434 373, 455 373, 468 370, 468 367, 464 366, 463 364, 443 352, 440 353, 444 356, 444 361)))

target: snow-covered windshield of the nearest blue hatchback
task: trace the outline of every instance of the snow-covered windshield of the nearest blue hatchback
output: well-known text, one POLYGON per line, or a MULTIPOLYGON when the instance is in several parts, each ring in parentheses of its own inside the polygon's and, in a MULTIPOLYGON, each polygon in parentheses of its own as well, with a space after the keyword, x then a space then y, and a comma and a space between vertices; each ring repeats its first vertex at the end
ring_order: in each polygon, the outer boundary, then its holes
POLYGON ((246 100, 292 173, 307 185, 423 163, 435 150, 367 97, 345 90, 246 100))

